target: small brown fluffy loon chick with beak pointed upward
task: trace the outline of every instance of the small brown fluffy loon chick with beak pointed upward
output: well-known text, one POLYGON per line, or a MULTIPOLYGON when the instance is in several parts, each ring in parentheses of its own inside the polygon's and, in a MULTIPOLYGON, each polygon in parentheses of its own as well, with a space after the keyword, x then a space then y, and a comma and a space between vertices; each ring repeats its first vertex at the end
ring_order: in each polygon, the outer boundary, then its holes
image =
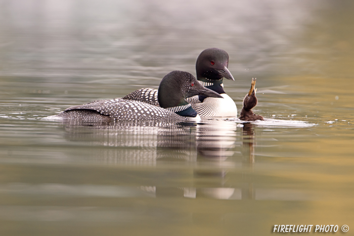
POLYGON ((257 88, 255 88, 256 79, 257 78, 252 78, 251 89, 249 89, 249 92, 246 94, 245 98, 243 99, 243 107, 239 117, 240 120, 245 120, 245 121, 263 120, 262 116, 256 115, 251 111, 251 109, 254 108, 258 103, 258 100, 256 98, 257 88))

